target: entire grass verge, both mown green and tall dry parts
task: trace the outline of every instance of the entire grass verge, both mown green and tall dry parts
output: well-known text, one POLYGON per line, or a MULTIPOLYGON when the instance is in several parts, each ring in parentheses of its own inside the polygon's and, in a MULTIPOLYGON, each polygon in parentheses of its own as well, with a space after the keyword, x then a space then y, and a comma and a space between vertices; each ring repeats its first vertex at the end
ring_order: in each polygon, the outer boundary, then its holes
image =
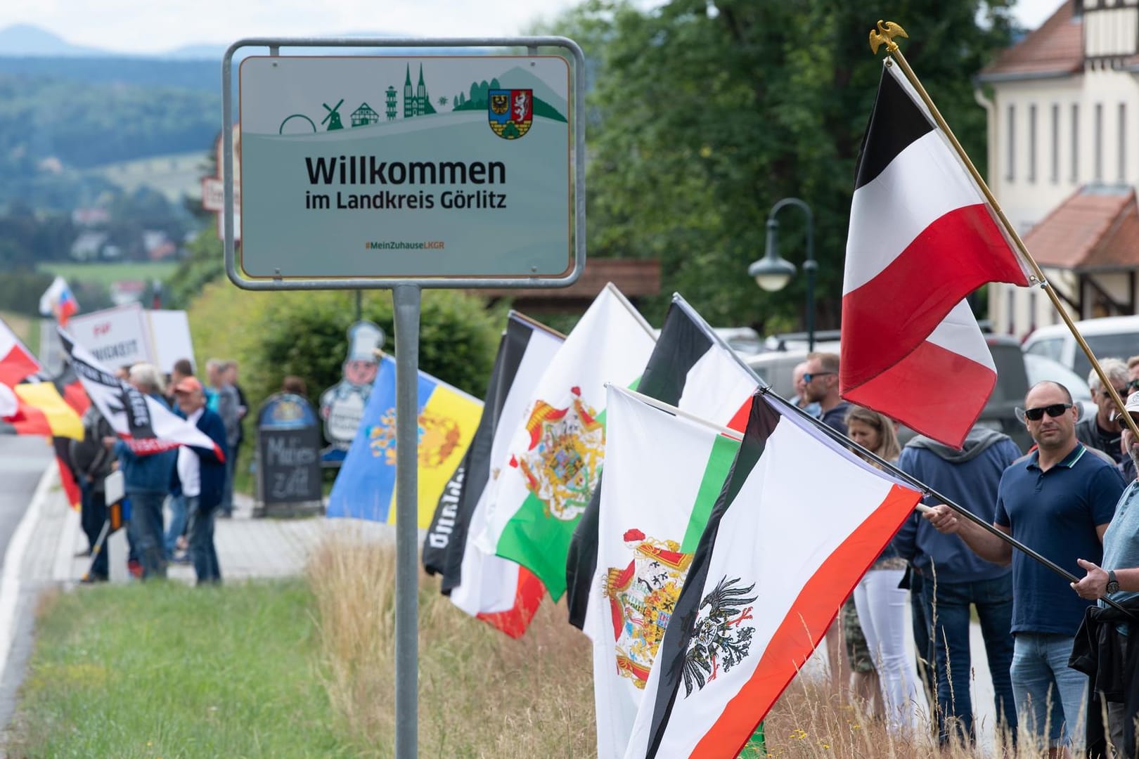
MULTIPOLYGON (((335 535, 308 576, 50 597, 10 757, 391 757, 394 551, 335 535)), ((419 756, 596 756, 591 647, 547 600, 514 641, 419 587, 419 756)), ((819 683, 792 683, 769 757, 966 759, 929 733, 892 736, 819 683)), ((1043 757, 1022 745, 1008 759, 1043 757)))

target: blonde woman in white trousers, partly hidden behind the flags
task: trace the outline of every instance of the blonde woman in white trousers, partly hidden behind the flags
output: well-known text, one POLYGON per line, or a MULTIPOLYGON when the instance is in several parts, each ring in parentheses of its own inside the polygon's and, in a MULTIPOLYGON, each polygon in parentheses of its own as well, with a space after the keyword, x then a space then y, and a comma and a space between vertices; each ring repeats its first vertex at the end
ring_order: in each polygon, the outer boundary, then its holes
MULTIPOLYGON (((888 416, 861 406, 846 412, 846 435, 884 461, 898 461, 902 447, 888 416)), ((913 657, 906 651, 910 625, 908 592, 898 587, 906 560, 890 545, 854 587, 854 607, 867 647, 878 670, 886 726, 893 734, 916 734, 923 696, 913 657)))

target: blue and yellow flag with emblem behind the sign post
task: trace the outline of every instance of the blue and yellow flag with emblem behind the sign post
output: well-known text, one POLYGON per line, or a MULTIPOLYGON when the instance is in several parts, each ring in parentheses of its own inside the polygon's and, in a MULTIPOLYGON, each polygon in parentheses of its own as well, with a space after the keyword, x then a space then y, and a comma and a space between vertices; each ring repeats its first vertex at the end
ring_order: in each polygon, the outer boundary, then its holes
MULTIPOLYGON (((419 527, 435 504, 478 427, 483 403, 419 372, 419 527)), ((384 356, 360 429, 328 496, 329 517, 395 522, 395 360, 384 356)))

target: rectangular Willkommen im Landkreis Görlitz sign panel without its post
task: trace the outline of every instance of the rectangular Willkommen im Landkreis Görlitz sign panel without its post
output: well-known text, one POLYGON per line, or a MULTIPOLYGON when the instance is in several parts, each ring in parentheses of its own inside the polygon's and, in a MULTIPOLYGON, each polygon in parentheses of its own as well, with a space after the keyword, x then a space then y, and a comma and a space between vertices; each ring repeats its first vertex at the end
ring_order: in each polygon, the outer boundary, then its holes
POLYGON ((571 92, 560 56, 245 58, 238 278, 572 282, 571 92))

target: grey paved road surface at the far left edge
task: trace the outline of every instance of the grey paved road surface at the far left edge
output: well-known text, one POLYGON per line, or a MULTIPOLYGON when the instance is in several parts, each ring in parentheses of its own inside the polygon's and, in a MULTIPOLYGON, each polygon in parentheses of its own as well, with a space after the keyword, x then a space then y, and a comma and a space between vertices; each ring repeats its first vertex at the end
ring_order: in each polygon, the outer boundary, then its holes
MULTIPOLYGON (((0 567, 7 567, 11 537, 32 502, 44 470, 55 465, 55 451, 40 437, 0 436, 0 567)), ((7 666, 0 676, 0 725, 7 725, 16 704, 16 691, 24 676, 31 653, 32 625, 39 587, 19 581, 19 567, 14 577, 3 577, 11 584, 15 604, 10 618, 0 619, 0 626, 10 626, 0 640, 13 641, 7 666), (15 583, 19 583, 15 585, 15 583)), ((5 613, 3 616, 7 616, 5 613)))

